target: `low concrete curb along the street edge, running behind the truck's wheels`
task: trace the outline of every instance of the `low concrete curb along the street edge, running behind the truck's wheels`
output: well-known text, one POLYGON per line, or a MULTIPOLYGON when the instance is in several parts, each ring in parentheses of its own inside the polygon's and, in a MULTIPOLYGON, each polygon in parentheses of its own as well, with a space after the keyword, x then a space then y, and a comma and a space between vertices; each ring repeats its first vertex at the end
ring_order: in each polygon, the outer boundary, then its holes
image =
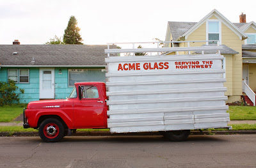
MULTIPOLYGON (((228 135, 228 134, 256 134, 256 130, 238 130, 238 131, 191 131, 190 135, 228 135)), ((135 135, 161 135, 159 132, 138 132, 138 133, 113 133, 111 132, 76 132, 71 136, 135 136, 135 135)), ((19 136, 19 137, 35 137, 39 136, 38 132, 0 132, 1 137, 19 136)))

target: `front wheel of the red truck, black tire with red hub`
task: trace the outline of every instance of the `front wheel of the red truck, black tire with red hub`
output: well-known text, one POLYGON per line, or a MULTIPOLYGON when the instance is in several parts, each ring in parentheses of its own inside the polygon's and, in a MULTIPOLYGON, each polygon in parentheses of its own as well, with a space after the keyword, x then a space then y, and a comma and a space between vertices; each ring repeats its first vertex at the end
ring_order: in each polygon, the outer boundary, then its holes
POLYGON ((65 133, 61 121, 55 118, 45 119, 39 126, 39 135, 44 142, 58 142, 65 133))

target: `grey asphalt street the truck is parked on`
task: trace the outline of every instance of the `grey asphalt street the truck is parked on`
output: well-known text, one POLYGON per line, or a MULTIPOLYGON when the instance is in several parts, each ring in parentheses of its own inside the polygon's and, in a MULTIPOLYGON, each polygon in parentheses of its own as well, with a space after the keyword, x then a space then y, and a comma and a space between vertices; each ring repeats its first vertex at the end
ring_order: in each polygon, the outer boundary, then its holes
POLYGON ((256 167, 256 135, 0 137, 0 167, 256 167))

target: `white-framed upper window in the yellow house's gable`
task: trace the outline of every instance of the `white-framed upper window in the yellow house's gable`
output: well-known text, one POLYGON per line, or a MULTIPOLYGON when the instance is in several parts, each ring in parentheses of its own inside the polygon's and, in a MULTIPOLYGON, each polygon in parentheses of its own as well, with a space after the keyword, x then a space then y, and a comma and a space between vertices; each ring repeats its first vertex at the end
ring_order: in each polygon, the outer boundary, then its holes
MULTIPOLYGON (((220 40, 220 22, 208 21, 208 40, 220 40)), ((217 42, 209 42, 209 44, 216 44, 217 42)))

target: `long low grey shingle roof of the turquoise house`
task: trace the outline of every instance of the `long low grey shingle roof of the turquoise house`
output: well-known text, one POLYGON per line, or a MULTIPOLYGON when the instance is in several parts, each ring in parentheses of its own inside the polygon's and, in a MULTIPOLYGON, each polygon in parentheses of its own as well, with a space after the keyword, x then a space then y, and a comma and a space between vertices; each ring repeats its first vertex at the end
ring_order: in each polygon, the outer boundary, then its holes
MULTIPOLYGON (((110 45, 115 48, 116 45, 110 45)), ((0 45, 1 66, 105 66, 108 45, 0 45), (15 54, 17 52, 17 54, 15 54)))

